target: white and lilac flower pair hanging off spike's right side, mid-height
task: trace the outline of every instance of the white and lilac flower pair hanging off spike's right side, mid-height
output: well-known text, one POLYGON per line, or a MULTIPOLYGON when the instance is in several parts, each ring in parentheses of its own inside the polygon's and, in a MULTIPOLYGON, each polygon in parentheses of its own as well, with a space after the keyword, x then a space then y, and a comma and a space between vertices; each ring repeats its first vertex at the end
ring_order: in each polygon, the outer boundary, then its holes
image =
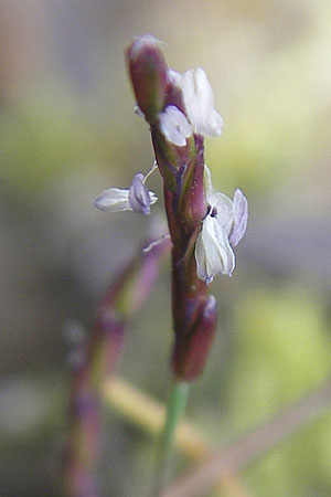
POLYGON ((206 170, 206 200, 209 213, 195 244, 197 276, 211 283, 216 274, 232 275, 235 255, 232 247, 242 240, 248 218, 248 204, 243 192, 237 189, 232 201, 224 193, 215 192, 211 172, 206 170))

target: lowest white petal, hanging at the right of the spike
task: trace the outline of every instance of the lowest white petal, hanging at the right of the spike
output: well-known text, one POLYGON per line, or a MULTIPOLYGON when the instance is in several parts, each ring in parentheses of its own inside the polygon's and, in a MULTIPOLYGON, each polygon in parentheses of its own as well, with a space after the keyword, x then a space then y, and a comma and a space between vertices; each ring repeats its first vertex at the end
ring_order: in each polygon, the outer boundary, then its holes
POLYGON ((215 274, 232 275, 235 268, 235 255, 228 243, 227 234, 216 218, 207 215, 202 224, 195 244, 197 276, 211 283, 215 274))

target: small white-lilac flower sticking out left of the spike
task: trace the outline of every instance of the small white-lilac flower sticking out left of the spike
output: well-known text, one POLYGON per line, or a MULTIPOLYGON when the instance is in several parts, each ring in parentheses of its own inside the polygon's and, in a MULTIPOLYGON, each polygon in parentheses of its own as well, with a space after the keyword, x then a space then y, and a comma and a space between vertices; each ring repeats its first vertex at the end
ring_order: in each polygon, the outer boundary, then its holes
POLYGON ((150 205, 157 202, 158 197, 147 190, 145 181, 156 168, 154 163, 146 176, 141 172, 135 175, 129 189, 109 188, 105 190, 94 201, 95 207, 100 211, 135 211, 140 214, 150 214, 150 205))

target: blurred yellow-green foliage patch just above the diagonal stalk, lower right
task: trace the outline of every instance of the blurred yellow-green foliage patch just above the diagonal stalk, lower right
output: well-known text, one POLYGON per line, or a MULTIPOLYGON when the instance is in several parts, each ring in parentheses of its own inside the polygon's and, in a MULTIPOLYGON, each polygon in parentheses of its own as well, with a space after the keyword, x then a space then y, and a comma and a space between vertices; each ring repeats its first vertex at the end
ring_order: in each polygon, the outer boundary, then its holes
POLYGON ((323 381, 331 339, 321 305, 301 288, 253 289, 236 309, 232 421, 241 429, 275 413, 323 381), (245 378, 245 382, 243 382, 245 378), (247 384, 254 388, 247 389, 247 384))

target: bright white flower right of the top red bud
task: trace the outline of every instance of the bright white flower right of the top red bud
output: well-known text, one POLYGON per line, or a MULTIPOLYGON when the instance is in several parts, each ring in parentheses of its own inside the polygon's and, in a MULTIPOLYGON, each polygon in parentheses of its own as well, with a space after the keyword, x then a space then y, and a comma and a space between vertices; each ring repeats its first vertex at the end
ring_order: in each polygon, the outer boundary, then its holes
POLYGON ((214 108, 214 96, 205 72, 197 67, 184 74, 170 70, 169 78, 181 88, 189 121, 194 133, 220 136, 223 119, 214 108))

